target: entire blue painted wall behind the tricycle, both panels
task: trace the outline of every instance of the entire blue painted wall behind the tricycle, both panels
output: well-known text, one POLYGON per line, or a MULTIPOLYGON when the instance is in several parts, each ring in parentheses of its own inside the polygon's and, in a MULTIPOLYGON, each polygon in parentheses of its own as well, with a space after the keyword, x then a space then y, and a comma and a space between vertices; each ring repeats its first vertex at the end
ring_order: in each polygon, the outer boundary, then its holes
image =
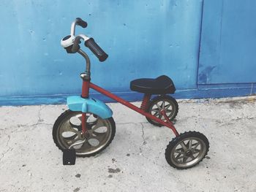
POLYGON ((94 37, 109 54, 104 63, 89 54, 93 82, 119 96, 140 98, 129 91, 129 81, 160 74, 173 78, 179 98, 249 94, 249 85, 254 88, 256 82, 255 26, 249 24, 256 8, 250 6, 253 0, 246 1, 2 0, 0 104, 56 103, 80 93, 83 58, 60 46, 76 17, 89 23, 77 32, 94 37), (241 17, 236 16, 239 10, 241 17), (252 31, 238 30, 246 27, 252 31), (238 46, 232 44, 230 51, 233 38, 238 46), (247 47, 252 49, 249 56, 247 47), (249 74, 239 73, 241 62, 249 74), (239 77, 227 72, 231 68, 239 77))

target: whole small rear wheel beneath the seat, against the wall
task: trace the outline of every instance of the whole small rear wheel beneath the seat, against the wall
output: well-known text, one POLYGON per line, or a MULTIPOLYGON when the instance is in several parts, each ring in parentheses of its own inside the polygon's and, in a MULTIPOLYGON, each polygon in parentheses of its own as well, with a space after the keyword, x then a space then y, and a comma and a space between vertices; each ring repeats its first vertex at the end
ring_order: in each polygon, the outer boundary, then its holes
MULTIPOLYGON (((148 103, 147 112, 165 121, 165 117, 161 114, 161 110, 165 110, 165 113, 169 120, 173 120, 174 118, 176 118, 176 115, 178 114, 178 103, 176 99, 171 96, 164 95, 157 96, 148 103)), ((150 118, 146 119, 154 126, 162 126, 161 124, 157 123, 154 120, 151 120, 150 118)))

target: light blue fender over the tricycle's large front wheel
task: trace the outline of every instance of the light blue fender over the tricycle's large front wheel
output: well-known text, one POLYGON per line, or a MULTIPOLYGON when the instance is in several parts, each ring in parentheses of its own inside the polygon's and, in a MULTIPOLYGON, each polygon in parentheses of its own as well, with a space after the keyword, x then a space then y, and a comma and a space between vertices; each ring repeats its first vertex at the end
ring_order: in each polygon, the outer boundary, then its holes
POLYGON ((83 99, 80 96, 69 96, 67 97, 67 106, 69 110, 91 112, 102 119, 111 118, 113 115, 108 105, 93 98, 83 99))

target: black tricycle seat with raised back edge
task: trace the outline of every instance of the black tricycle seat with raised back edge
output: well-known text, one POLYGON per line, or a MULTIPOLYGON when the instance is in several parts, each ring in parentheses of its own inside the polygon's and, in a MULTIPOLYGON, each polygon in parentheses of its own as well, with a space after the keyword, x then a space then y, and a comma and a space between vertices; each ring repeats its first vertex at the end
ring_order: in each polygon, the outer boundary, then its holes
POLYGON ((132 80, 130 82, 130 89, 132 91, 149 94, 167 94, 176 91, 173 80, 166 75, 159 76, 156 79, 144 78, 132 80))

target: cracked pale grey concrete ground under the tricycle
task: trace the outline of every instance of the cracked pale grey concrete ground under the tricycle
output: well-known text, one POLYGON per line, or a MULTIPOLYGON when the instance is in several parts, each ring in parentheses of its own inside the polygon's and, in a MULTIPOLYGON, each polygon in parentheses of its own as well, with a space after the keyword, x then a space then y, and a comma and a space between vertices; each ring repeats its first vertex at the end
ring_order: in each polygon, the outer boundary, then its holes
POLYGON ((62 165, 51 133, 65 105, 0 107, 0 191, 256 191, 256 97, 178 101, 178 131, 200 131, 210 142, 206 158, 187 170, 165 161, 168 128, 108 105, 116 137, 75 166, 62 165))

